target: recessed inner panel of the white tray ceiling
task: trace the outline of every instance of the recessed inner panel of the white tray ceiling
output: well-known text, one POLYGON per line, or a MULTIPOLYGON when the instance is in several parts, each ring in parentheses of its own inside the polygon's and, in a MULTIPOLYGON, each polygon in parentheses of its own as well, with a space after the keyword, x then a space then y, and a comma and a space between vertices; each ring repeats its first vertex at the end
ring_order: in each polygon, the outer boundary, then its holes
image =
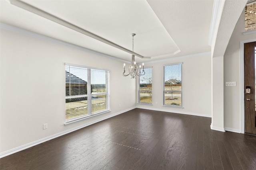
POLYGON ((33 0, 26 3, 68 21, 99 37, 116 43, 144 57, 172 55, 179 51, 148 2, 33 0))

